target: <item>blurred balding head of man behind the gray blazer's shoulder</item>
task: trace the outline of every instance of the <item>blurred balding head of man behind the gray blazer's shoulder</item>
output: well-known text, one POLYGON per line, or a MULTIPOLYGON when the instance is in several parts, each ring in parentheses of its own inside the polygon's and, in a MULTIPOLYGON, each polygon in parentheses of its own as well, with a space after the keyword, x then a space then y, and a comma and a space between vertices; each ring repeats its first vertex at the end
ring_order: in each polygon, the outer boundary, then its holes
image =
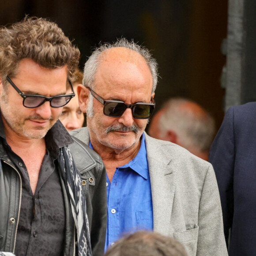
POLYGON ((148 134, 156 139, 176 143, 208 161, 215 136, 215 121, 196 102, 184 98, 170 98, 154 114, 148 134))

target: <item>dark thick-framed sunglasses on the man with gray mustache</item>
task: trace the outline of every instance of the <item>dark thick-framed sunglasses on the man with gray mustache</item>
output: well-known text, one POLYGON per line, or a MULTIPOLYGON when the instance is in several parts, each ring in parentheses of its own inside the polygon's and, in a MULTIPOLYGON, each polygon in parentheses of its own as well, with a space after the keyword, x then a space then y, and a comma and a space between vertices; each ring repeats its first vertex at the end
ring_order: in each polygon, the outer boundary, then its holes
POLYGON ((86 87, 90 90, 92 96, 96 98, 99 102, 104 105, 103 113, 108 117, 120 117, 125 109, 132 109, 132 116, 136 119, 148 119, 151 117, 155 103, 154 99, 151 97, 152 103, 143 103, 138 102, 136 104, 126 104, 121 101, 107 101, 100 97, 96 92, 90 89, 90 87, 86 87))

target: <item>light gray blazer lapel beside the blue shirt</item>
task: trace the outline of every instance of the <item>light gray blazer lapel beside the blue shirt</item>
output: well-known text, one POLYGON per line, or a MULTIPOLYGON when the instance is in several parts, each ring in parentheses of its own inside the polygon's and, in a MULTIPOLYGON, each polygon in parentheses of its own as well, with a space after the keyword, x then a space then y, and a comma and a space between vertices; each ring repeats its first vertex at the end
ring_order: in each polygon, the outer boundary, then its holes
POLYGON ((175 192, 171 154, 165 151, 164 141, 146 136, 147 160, 151 180, 154 231, 172 233, 171 213, 175 192))

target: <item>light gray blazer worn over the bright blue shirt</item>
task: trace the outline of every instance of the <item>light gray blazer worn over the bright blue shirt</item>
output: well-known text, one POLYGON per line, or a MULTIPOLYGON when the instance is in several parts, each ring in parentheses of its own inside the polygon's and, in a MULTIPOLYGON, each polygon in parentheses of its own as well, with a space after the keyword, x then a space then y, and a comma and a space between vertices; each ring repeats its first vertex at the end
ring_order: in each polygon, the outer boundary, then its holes
MULTIPOLYGON (((71 134, 89 144, 87 128, 71 134)), ((189 256, 226 256, 222 209, 214 170, 174 143, 144 132, 154 231, 180 241, 189 256)))

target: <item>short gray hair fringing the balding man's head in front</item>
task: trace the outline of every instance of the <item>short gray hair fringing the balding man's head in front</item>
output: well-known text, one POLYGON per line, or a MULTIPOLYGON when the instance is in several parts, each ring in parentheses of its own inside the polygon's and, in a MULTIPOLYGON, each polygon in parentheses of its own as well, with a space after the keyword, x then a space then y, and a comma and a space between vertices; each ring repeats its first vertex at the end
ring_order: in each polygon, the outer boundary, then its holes
POLYGON ((91 56, 84 65, 83 85, 94 89, 94 77, 98 66, 101 63, 102 53, 111 48, 124 47, 139 53, 146 61, 153 80, 152 94, 154 93, 158 82, 158 64, 152 57, 150 51, 141 45, 136 44, 133 40, 128 41, 126 38, 117 39, 113 43, 103 43, 98 48, 95 48, 91 56))

